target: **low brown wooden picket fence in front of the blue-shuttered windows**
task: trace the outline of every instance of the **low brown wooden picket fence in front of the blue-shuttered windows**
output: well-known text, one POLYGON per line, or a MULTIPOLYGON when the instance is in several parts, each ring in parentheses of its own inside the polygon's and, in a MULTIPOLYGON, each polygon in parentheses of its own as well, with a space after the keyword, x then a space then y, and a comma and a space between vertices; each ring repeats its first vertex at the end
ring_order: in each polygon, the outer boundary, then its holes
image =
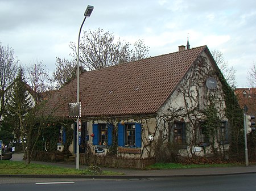
POLYGON ((143 169, 154 164, 154 158, 122 158, 112 156, 80 155, 80 163, 101 167, 143 169))

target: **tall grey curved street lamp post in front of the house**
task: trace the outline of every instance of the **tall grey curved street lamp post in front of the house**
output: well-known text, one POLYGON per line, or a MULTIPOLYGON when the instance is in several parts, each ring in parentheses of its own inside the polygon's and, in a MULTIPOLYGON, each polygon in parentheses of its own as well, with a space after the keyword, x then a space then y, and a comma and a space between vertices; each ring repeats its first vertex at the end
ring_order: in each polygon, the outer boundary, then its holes
MULTIPOLYGON (((79 39, 78 39, 78 45, 77 45, 77 103, 79 103, 79 41, 80 41, 80 34, 82 30, 82 26, 85 22, 86 17, 90 16, 93 11, 93 6, 88 5, 85 12, 84 12, 84 20, 82 21, 80 31, 79 31, 79 39)), ((79 169, 79 116, 76 120, 76 169, 79 169)))

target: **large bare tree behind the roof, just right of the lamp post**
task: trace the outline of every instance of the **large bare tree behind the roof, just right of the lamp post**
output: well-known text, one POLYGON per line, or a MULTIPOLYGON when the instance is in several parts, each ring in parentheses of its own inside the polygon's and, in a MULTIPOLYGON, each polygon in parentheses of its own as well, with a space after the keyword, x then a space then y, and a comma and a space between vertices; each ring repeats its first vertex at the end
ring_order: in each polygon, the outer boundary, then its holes
MULTIPOLYGON (((130 45, 120 39, 115 43, 113 33, 104 32, 101 28, 85 31, 80 43, 81 63, 86 69, 94 70, 147 57, 148 47, 142 40, 137 41, 132 50, 130 45)), ((73 57, 76 58, 76 45, 72 43, 71 48, 74 51, 73 57)))

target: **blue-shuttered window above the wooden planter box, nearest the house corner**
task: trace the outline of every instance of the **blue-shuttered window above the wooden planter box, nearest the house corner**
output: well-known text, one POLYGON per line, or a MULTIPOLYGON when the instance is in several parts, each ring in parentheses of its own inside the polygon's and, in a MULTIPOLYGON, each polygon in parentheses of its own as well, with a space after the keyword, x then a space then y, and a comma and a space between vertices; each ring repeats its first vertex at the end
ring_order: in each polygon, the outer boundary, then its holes
POLYGON ((141 124, 118 124, 118 146, 141 147, 141 124))

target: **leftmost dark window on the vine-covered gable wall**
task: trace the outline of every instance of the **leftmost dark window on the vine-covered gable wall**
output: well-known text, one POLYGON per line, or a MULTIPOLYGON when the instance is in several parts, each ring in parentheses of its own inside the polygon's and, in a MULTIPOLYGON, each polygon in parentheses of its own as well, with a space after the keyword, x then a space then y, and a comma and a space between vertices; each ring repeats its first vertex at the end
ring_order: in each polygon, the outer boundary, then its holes
POLYGON ((185 145, 186 143, 186 130, 185 122, 174 122, 171 125, 171 141, 175 141, 178 145, 185 145))

